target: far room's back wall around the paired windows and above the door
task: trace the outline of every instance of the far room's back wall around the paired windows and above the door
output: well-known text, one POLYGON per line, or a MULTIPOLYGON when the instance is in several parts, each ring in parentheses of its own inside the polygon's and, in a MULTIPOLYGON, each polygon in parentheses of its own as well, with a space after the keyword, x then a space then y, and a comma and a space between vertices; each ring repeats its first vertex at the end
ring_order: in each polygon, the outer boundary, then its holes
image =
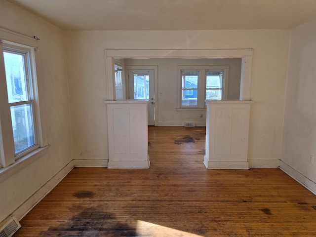
POLYGON ((241 59, 125 59, 127 66, 158 66, 158 125, 181 125, 195 122, 206 125, 206 109, 202 111, 177 111, 178 66, 229 65, 228 99, 239 100, 241 59), (201 118, 200 115, 203 117, 201 118))

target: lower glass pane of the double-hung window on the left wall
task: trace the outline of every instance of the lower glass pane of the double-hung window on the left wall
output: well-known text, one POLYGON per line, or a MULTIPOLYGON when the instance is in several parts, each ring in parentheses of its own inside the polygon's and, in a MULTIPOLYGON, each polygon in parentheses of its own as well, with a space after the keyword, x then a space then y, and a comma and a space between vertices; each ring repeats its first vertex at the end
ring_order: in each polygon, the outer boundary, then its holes
POLYGON ((32 105, 11 106, 15 154, 35 145, 32 105))

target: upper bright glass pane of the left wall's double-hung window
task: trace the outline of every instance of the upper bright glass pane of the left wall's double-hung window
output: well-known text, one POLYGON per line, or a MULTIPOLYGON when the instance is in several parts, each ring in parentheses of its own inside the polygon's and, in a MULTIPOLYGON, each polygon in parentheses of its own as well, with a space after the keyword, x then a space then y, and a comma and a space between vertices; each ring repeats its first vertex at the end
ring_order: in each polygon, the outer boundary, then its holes
POLYGON ((3 56, 9 103, 28 100, 24 65, 26 55, 3 52, 3 56))

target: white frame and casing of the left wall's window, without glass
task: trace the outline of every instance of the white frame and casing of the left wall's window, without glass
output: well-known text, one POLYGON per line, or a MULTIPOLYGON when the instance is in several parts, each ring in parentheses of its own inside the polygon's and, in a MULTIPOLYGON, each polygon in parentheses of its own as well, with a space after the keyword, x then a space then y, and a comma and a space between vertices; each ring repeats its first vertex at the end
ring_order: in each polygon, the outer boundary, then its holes
MULTIPOLYGON (((15 164, 20 164, 26 159, 31 162, 35 158, 39 158, 44 154, 44 151, 46 152, 48 146, 46 131, 42 126, 40 114, 40 108, 42 108, 43 105, 40 104, 41 96, 39 88, 41 86, 38 73, 39 55, 37 40, 0 28, 0 51, 0 174, 2 174, 3 172, 7 173, 8 170, 15 167, 15 164), (36 145, 18 154, 15 154, 10 104, 7 96, 8 92, 3 57, 4 48, 21 50, 29 54, 30 67, 28 70, 30 74, 30 84, 32 84, 30 89, 33 93, 28 103, 31 102, 33 106, 33 120, 36 126, 36 129, 34 129, 36 145), (33 157, 33 159, 29 159, 31 157, 33 157)), ((17 104, 19 104, 19 102, 17 104)))

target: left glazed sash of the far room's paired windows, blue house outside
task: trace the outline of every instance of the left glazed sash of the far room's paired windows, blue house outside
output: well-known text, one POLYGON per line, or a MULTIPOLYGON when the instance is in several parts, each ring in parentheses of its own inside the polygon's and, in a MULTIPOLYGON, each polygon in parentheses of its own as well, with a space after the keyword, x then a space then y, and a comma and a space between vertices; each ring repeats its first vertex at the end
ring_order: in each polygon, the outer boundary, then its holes
POLYGON ((197 106, 198 71, 182 70, 181 106, 197 106))

